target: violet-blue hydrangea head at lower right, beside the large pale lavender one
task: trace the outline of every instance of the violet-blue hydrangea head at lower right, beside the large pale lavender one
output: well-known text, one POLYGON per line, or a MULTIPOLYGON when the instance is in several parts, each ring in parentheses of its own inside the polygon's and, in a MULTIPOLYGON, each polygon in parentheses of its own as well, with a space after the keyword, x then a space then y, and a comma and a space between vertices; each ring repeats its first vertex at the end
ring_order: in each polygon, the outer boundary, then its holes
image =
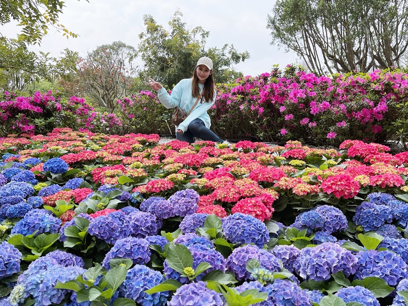
POLYGON ((406 263, 401 256, 392 251, 360 251, 356 257, 358 259, 354 273, 356 279, 370 276, 380 277, 388 285, 395 287, 402 278, 408 275, 406 263))

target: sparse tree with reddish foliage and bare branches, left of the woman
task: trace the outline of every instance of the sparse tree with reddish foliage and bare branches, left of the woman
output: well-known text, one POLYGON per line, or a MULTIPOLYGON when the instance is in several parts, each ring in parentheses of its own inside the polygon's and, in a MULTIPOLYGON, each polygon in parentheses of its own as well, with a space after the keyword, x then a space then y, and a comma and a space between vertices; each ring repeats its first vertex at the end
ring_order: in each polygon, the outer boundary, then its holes
POLYGON ((78 64, 78 72, 96 102, 113 113, 117 99, 129 94, 134 47, 121 41, 98 46, 78 64))

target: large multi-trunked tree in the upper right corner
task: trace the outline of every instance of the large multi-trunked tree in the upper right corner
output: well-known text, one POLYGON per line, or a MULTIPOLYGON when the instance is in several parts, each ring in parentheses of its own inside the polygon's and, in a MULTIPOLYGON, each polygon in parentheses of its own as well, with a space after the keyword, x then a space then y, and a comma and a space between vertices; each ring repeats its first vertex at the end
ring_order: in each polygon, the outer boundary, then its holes
POLYGON ((319 74, 400 67, 408 46, 406 0, 277 0, 272 44, 319 74))

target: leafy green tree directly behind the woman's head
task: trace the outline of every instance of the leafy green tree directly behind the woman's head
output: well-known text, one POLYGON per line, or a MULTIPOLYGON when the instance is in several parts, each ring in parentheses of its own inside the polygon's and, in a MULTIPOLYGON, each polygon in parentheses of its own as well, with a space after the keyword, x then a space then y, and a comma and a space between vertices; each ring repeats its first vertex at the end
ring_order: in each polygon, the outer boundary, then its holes
POLYGON ((180 80, 191 77, 201 56, 213 59, 216 83, 233 81, 242 75, 234 70, 233 65, 248 59, 248 52, 238 53, 233 45, 228 44, 221 49, 213 47, 206 50, 210 32, 201 27, 186 29, 182 16, 179 10, 174 12, 168 31, 151 15, 144 16, 145 32, 139 35, 141 42, 137 48, 137 56, 144 62, 144 67, 139 70, 141 78, 151 77, 171 88, 180 80))

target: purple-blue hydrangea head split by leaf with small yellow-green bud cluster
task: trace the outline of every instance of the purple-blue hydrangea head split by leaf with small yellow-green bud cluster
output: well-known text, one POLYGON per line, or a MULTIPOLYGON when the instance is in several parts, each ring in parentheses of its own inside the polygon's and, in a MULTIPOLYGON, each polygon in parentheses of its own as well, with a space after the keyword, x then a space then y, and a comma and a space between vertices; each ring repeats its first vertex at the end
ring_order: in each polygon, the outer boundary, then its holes
MULTIPOLYGON (((195 279, 199 281, 203 276, 207 273, 214 271, 214 270, 221 270, 222 272, 225 271, 225 259, 222 254, 214 249, 202 250, 202 249, 195 249, 194 247, 190 248, 191 255, 193 256, 193 266, 192 268, 195 270, 200 263, 206 262, 211 265, 209 269, 205 272, 200 273, 195 279)), ((163 273, 167 279, 176 279, 182 284, 189 283, 188 277, 181 276, 179 272, 176 272, 167 263, 167 260, 163 263, 163 273)))

